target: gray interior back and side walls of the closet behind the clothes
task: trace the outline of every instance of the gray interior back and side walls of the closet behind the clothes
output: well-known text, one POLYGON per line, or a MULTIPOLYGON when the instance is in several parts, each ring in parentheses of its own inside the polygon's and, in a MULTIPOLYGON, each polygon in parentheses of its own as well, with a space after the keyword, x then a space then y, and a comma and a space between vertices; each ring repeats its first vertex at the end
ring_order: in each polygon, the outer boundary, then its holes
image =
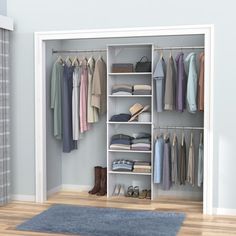
MULTIPOLYGON (((52 136, 52 111, 49 108, 48 99, 50 97, 50 76, 54 61, 59 54, 52 55, 52 48, 55 50, 73 50, 73 49, 101 49, 106 48, 107 44, 127 44, 127 43, 153 43, 158 47, 168 46, 198 46, 204 45, 202 35, 188 36, 162 36, 162 37, 135 37, 135 38, 114 38, 114 39, 81 39, 81 40, 62 40, 61 42, 47 42, 46 47, 46 73, 47 73, 47 186, 48 190, 60 184, 92 186, 94 181, 93 168, 96 165, 106 165, 106 117, 103 116, 99 123, 92 126, 92 129, 85 133, 84 138, 79 141, 78 150, 71 153, 62 153, 61 144, 52 136), (61 175, 60 175, 61 174, 61 175), (60 176, 59 176, 60 175, 60 176)), ((172 51, 173 57, 180 50, 172 51)), ((193 50, 183 50, 188 54, 193 50)), ((195 50, 197 53, 199 50, 195 50)), ((155 52, 154 65, 159 59, 159 52, 155 52)), ((93 55, 97 58, 104 53, 83 53, 78 54, 80 58, 85 56, 89 58, 93 55)), ((68 53, 60 54, 67 56, 68 53)), ((73 55, 73 54, 71 54, 73 55)), ((165 59, 168 59, 169 51, 164 52, 165 59)), ((155 100, 154 100, 155 101, 155 100)), ((154 108, 155 108, 154 102, 154 108)), ((187 112, 164 112, 157 114, 154 109, 154 122, 159 126, 180 125, 180 126, 202 126, 203 113, 192 115, 187 112)), ((196 131, 197 132, 197 131, 196 131)), ((186 131, 186 136, 188 133, 186 131)), ((187 142, 189 138, 187 137, 187 142)), ((198 143, 198 134, 196 133, 196 144, 198 143)), ((188 143, 187 143, 188 144, 188 143)), ((197 147, 197 146, 196 146, 197 147)), ((197 148, 196 148, 197 149, 197 148)), ((182 191, 187 191, 191 197, 192 190, 196 198, 202 197, 202 189, 191 189, 189 186, 173 188, 171 191, 161 191, 160 195, 175 194, 182 196, 182 191)), ((184 193, 184 192, 183 192, 184 193)))

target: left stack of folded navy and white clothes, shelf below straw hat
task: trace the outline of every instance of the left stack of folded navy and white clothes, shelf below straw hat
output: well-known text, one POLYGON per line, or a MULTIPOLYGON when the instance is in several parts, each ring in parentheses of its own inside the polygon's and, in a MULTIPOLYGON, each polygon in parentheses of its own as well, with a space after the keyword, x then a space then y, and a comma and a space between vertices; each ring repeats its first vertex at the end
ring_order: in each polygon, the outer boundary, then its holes
POLYGON ((126 134, 115 134, 111 138, 110 149, 130 150, 131 139, 126 134))

